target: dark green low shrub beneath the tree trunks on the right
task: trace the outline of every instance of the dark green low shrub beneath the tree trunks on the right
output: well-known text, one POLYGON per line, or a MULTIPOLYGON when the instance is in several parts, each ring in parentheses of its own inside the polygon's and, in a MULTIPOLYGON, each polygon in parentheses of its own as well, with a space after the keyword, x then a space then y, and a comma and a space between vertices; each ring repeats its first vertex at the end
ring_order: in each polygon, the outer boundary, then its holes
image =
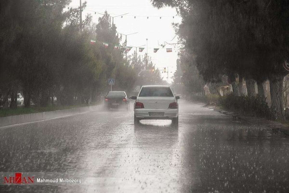
POLYGON ((249 97, 247 95, 234 96, 233 94, 219 97, 219 104, 228 110, 238 111, 251 116, 266 117, 270 120, 278 118, 276 109, 271 109, 265 99, 259 95, 249 97))

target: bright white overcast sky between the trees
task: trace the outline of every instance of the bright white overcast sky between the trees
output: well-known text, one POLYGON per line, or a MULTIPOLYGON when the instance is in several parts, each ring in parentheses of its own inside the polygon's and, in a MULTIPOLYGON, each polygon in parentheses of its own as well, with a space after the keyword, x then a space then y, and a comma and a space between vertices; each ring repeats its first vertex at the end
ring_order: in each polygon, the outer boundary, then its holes
MULTIPOLYGON (((94 12, 103 13, 108 11, 110 16, 118 16, 114 18, 114 24, 116 30, 122 34, 132 34, 127 36, 127 46, 142 46, 144 51, 139 52, 138 55, 144 55, 146 52, 151 57, 152 62, 156 68, 164 69, 168 68, 169 82, 172 81, 171 77, 176 70, 176 60, 180 44, 169 45, 166 44, 164 49, 159 44, 177 43, 177 37, 175 37, 175 31, 172 23, 180 23, 181 17, 176 16, 177 12, 175 8, 161 8, 157 9, 151 5, 150 0, 86 0, 86 10, 82 13, 82 18, 87 14, 91 14, 93 22, 97 23, 101 14, 95 14, 94 12), (136 16, 136 18, 134 18, 136 16), (174 16, 174 18, 173 18, 174 16), (147 18, 149 17, 149 18, 147 18), (162 17, 162 18, 160 18, 162 17), (175 38, 174 38, 175 37, 175 38), (173 39, 174 38, 174 39, 173 39), (148 40, 146 40, 148 39, 148 40), (173 40, 172 40, 173 39, 173 40), (148 49, 147 49, 148 47, 148 49), (154 48, 159 48, 156 53, 153 53, 154 48), (166 52, 166 48, 172 48, 173 52, 166 52)), ((84 0, 82 0, 82 3, 84 0)), ((72 0, 70 6, 78 7, 79 0, 72 0)), ((122 42, 125 41, 123 37, 122 42)), ((131 49, 127 54, 132 54, 136 48, 131 49)), ((163 79, 166 80, 167 75, 161 74, 163 79)))

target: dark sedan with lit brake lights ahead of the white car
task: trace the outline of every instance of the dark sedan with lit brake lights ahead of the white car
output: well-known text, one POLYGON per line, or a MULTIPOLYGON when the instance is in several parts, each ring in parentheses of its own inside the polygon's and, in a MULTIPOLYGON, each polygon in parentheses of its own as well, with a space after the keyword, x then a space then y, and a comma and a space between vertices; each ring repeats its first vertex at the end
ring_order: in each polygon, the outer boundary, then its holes
POLYGON ((110 91, 105 96, 105 105, 108 109, 129 108, 129 98, 124 91, 110 91))

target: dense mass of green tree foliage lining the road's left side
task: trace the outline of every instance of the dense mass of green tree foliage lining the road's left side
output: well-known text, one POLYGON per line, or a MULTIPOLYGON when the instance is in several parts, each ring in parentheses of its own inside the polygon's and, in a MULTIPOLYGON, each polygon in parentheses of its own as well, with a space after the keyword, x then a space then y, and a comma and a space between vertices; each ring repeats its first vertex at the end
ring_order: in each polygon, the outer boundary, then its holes
MULTIPOLYGON (((18 92, 23 93, 25 107, 30 99, 47 106, 55 96, 59 105, 96 101, 110 89, 108 78, 116 79, 114 90, 133 88, 136 73, 126 64, 123 49, 111 46, 120 44, 121 37, 109 14, 98 24, 87 15, 81 30, 79 8, 64 9, 70 0, 55 2, 1 2, 0 105, 18 92), (111 44, 106 49, 99 42, 89 44, 90 39, 111 44)), ((81 9, 85 6, 86 2, 81 9)))

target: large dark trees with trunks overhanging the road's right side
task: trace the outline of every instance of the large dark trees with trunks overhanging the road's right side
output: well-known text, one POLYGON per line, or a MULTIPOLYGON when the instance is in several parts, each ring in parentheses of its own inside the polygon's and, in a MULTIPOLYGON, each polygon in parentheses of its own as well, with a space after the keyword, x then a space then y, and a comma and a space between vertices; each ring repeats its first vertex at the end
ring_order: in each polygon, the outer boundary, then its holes
MULTIPOLYGON (((235 95, 239 95, 236 77, 247 80, 249 96, 255 95, 254 81, 264 92, 264 80, 269 78, 272 108, 284 120, 281 94, 282 62, 288 58, 289 34, 286 1, 229 0, 153 0, 153 5, 176 7, 182 16, 179 36, 186 49, 197 55, 197 68, 205 81, 220 81, 220 75, 230 77, 235 95)), ((264 94, 262 94, 264 95, 264 94)))

